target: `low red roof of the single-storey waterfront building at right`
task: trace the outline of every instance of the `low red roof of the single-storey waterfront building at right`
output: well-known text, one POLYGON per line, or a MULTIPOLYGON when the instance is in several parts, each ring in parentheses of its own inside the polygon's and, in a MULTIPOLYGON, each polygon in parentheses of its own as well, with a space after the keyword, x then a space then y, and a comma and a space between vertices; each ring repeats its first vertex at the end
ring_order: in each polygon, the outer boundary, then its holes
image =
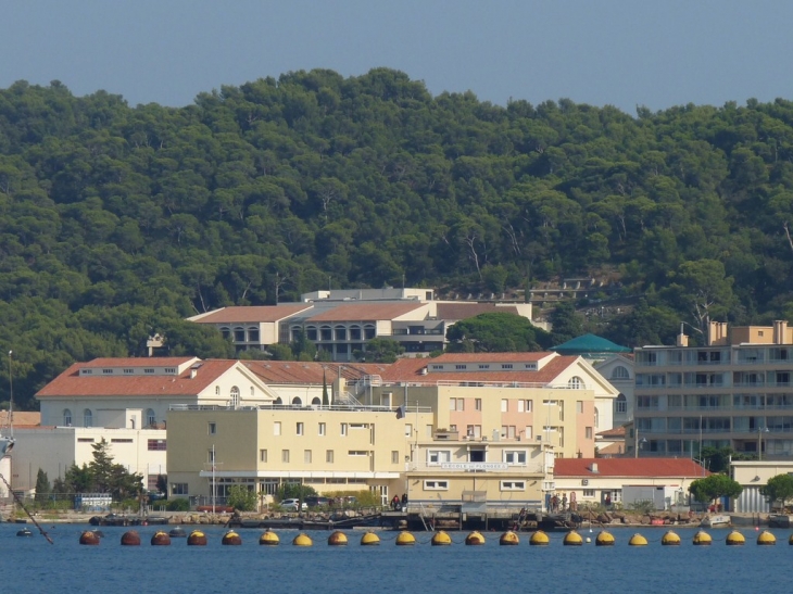
POLYGON ((704 477, 709 475, 702 466, 689 458, 556 458, 554 477, 704 477), (592 472, 592 464, 597 472, 592 472))

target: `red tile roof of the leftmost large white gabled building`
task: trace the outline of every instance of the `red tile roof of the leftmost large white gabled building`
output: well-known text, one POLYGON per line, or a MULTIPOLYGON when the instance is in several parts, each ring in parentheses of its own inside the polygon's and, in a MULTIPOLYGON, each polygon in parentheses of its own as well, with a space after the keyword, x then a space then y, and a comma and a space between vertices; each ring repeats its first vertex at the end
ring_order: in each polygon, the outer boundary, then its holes
MULTIPOLYGON (((191 357, 190 357, 191 358, 191 357)), ((190 361, 187 358, 187 361, 190 361)), ((176 357, 167 358, 119 358, 93 359, 88 363, 75 363, 63 374, 45 386, 36 397, 75 397, 75 396, 196 396, 223 374, 234 367, 236 361, 204 361, 197 369, 196 377, 190 379, 191 369, 179 375, 91 375, 80 376, 79 370, 86 367, 127 367, 135 362, 147 367, 177 366, 168 361, 185 361, 176 357), (98 364, 102 362, 102 364, 98 364)))

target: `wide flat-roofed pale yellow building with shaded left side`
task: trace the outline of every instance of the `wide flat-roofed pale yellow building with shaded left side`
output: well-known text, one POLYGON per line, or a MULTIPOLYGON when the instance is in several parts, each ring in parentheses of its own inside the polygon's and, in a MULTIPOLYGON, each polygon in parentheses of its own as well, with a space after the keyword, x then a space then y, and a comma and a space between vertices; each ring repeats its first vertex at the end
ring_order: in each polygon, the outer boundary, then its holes
POLYGON ((320 494, 368 489, 387 504, 404 491, 416 422, 431 426, 432 413, 419 408, 400 419, 376 406, 174 406, 171 495, 222 502, 243 484, 265 502, 281 483, 302 483, 320 494))

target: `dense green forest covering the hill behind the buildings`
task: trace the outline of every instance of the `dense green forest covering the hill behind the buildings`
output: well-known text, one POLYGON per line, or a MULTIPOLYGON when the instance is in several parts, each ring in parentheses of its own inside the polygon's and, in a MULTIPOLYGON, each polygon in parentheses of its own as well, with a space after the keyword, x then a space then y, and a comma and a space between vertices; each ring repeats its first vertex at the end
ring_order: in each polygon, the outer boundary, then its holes
POLYGON ((498 293, 611 275, 635 306, 596 330, 629 346, 681 320, 793 319, 791 219, 785 100, 499 106, 386 68, 181 109, 0 90, 0 344, 28 406, 73 361, 142 354, 153 331, 174 354, 231 356, 182 318, 328 283, 498 293))

